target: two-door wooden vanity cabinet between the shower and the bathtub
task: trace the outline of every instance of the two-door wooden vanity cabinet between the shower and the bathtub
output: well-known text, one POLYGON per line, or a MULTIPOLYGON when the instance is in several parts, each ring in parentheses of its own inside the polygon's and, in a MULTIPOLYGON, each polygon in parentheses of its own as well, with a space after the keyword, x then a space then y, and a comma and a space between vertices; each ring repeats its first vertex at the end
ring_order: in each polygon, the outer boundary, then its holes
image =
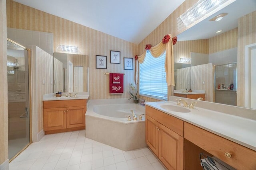
POLYGON ((45 134, 85 129, 86 99, 44 101, 45 134))

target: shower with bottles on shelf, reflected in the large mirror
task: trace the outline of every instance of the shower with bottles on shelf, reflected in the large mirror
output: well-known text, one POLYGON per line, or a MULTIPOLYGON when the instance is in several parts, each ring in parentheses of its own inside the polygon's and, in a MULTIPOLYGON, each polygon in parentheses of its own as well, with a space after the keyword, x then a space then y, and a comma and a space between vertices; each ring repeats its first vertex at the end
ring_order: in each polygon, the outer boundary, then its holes
POLYGON ((214 102, 236 106, 237 63, 214 66, 214 102))

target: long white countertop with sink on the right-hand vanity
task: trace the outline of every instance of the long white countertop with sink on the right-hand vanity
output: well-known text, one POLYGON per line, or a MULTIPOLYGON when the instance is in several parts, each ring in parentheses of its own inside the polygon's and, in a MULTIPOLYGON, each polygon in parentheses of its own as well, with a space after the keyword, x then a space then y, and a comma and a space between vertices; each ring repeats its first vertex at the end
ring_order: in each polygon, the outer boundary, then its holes
MULTIPOLYGON (((190 102, 188 102, 188 104, 189 103, 190 102)), ((254 117, 250 119, 248 117, 238 116, 237 114, 231 115, 230 113, 222 113, 220 111, 213 111, 212 109, 197 106, 195 106, 194 109, 187 108, 190 110, 188 113, 170 111, 168 107, 163 107, 163 105, 183 107, 183 104, 177 106, 174 101, 146 102, 145 104, 256 151, 256 119, 254 119, 254 117)), ((212 104, 215 105, 215 103, 212 104)), ((222 106, 219 105, 218 107, 222 106)), ((241 107, 239 107, 239 112, 242 113, 240 109, 241 107)), ((246 110, 246 108, 244 109, 246 110)), ((254 112, 253 109, 251 110, 254 112)), ((246 114, 246 112, 242 114, 246 114)))

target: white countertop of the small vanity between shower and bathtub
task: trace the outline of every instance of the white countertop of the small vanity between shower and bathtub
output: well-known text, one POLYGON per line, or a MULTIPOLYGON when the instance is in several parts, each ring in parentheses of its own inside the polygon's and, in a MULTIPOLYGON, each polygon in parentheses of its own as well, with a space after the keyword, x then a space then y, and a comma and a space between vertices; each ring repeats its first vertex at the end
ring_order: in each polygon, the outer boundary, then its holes
POLYGON ((62 93, 61 97, 56 97, 55 93, 44 94, 42 97, 42 101, 88 99, 90 96, 89 92, 78 92, 73 94, 76 94, 76 96, 74 95, 70 96, 69 93, 62 93), (66 97, 65 94, 67 94, 68 97, 66 97))

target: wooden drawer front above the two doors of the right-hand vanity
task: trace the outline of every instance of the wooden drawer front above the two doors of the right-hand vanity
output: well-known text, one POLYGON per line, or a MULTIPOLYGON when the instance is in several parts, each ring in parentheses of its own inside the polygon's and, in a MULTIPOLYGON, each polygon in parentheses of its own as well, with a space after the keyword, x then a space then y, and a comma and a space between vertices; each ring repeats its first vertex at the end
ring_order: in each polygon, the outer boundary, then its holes
POLYGON ((146 115, 152 117, 162 125, 168 127, 172 131, 178 133, 180 136, 183 137, 183 123, 184 121, 168 115, 162 111, 154 109, 150 106, 146 106, 146 115))

